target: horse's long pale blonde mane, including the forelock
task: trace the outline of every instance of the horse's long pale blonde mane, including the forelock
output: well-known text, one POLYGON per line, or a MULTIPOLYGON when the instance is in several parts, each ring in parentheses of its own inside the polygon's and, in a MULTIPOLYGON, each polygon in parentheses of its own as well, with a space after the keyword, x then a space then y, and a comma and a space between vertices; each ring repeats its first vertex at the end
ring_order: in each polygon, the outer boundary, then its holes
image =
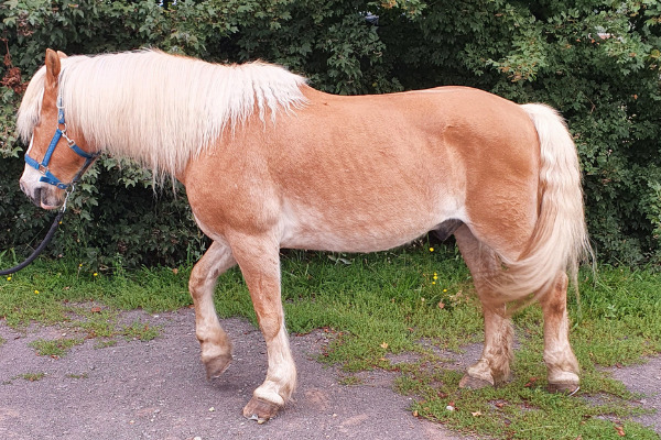
MULTIPOLYGON (((30 81, 18 116, 30 141, 39 123, 45 68, 30 81)), ((191 157, 253 112, 266 123, 305 103, 305 79, 261 63, 210 64, 139 51, 62 59, 59 94, 67 123, 94 150, 129 156, 154 174, 182 170, 191 157)))

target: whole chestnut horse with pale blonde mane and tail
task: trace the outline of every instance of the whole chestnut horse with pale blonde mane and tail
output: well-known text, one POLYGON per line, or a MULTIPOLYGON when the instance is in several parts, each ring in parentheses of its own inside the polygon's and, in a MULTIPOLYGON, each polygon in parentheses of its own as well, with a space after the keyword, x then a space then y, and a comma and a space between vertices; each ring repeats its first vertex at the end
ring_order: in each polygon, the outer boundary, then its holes
POLYGON ((484 309, 484 351, 460 386, 510 378, 508 304, 538 300, 549 387, 578 387, 566 292, 588 249, 581 173, 572 136, 546 106, 466 87, 340 97, 261 62, 48 50, 18 130, 30 142, 21 187, 45 209, 64 202, 99 153, 185 185, 213 240, 189 280, 208 377, 232 359, 213 295, 236 264, 267 343, 248 418, 274 417, 296 383, 280 249, 373 252, 429 231, 455 235, 484 309))

